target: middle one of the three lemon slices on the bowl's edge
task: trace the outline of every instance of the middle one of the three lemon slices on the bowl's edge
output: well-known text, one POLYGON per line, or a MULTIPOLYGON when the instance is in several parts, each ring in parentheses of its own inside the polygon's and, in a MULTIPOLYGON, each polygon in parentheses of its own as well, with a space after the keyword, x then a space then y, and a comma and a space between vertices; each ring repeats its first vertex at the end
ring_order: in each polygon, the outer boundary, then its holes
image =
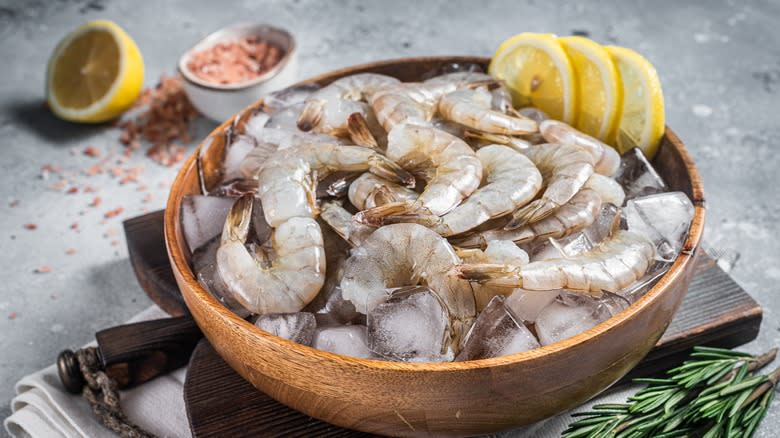
POLYGON ((603 141, 614 139, 623 98, 615 64, 601 45, 588 38, 558 38, 569 56, 577 81, 574 125, 603 141))

